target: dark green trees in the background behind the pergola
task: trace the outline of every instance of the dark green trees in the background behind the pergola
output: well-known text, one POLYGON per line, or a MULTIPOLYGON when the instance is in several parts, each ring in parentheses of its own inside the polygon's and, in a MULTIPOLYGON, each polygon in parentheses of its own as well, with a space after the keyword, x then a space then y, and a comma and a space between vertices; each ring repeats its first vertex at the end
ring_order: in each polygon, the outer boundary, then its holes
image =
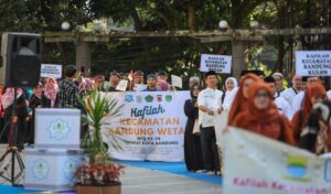
MULTIPOLYGON (((92 30, 95 19, 109 18, 124 26, 134 24, 136 31, 217 30, 221 20, 228 21, 232 29, 249 28, 250 20, 257 20, 267 29, 312 28, 327 25, 330 8, 324 4, 320 0, 0 0, 0 30, 61 31, 63 21, 71 23, 72 31, 82 26, 92 30), (190 26, 191 20, 193 26, 190 26)), ((296 36, 295 43, 298 48, 325 48, 330 46, 329 39, 320 36, 313 41, 311 36, 296 36)), ((264 44, 252 43, 248 60, 255 60, 257 52, 267 45, 276 50, 270 52, 280 54, 268 62, 257 57, 257 64, 267 65, 271 71, 280 66, 284 71, 290 65, 285 64, 289 41, 290 37, 271 36, 264 44)), ((93 71, 154 72, 161 68, 186 78, 199 74, 201 53, 231 54, 229 45, 231 42, 202 44, 195 37, 111 40, 109 44, 93 45, 93 71)), ((49 63, 74 63, 75 43, 45 44, 44 47, 49 63)))

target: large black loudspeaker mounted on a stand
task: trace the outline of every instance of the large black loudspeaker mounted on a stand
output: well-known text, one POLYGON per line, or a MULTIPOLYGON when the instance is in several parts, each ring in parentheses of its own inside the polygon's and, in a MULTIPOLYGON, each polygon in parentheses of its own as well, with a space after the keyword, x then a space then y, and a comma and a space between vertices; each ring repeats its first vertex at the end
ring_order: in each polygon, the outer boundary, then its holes
POLYGON ((36 87, 40 79, 42 43, 39 34, 2 34, 0 83, 6 87, 36 87))

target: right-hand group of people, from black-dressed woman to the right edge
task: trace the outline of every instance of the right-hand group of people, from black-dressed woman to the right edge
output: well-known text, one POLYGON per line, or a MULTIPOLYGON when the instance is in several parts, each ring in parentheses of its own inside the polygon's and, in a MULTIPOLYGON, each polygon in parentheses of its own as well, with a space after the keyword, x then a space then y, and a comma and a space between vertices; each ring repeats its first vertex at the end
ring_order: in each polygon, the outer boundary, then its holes
POLYGON ((317 154, 331 151, 331 90, 327 93, 321 77, 292 76, 290 87, 285 88, 281 73, 265 77, 259 71, 244 71, 239 80, 228 77, 221 90, 215 72, 204 78, 204 89, 199 84, 190 86, 191 99, 184 107, 189 171, 222 174, 222 148, 216 144, 214 126, 214 116, 222 112, 227 115, 228 127, 317 154))

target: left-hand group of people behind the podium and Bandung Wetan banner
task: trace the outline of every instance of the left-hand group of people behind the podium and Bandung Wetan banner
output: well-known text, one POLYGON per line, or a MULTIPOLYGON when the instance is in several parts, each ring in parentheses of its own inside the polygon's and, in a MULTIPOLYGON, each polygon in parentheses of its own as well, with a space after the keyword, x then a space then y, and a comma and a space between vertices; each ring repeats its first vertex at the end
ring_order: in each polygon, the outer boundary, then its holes
POLYGON ((118 89, 121 80, 127 80, 127 91, 167 91, 174 90, 168 83, 164 71, 157 74, 145 75, 141 71, 120 74, 111 72, 109 75, 86 76, 77 72, 76 67, 68 65, 65 77, 41 78, 35 88, 17 88, 14 104, 14 88, 6 88, 0 84, 0 142, 15 144, 20 150, 24 144, 34 142, 34 110, 35 108, 78 108, 78 97, 92 89, 99 91, 122 91, 118 89), (15 105, 17 134, 13 134, 12 111, 15 105))

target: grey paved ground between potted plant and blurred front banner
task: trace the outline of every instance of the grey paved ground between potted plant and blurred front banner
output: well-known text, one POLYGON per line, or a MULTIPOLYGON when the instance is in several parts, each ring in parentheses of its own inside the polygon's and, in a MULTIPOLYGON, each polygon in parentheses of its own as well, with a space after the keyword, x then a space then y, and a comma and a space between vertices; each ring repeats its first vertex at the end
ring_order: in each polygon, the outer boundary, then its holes
MULTIPOLYGON (((4 147, 0 146, 0 155, 4 147)), ((1 168, 1 164, 0 164, 1 168)), ((0 177, 0 183, 4 180, 0 177)), ((221 194, 213 184, 159 171, 127 166, 121 176, 122 194, 221 194)), ((4 184, 9 184, 6 183, 4 184)))

